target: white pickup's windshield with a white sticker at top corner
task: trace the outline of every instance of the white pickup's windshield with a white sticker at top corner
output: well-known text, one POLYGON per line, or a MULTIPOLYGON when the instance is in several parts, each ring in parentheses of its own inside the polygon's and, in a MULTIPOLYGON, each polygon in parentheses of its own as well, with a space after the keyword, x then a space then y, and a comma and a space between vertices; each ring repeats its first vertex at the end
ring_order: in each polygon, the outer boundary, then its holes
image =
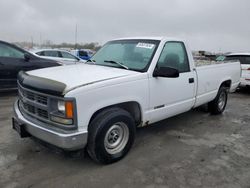
POLYGON ((146 72, 159 43, 158 40, 111 41, 96 52, 90 61, 96 65, 146 72))

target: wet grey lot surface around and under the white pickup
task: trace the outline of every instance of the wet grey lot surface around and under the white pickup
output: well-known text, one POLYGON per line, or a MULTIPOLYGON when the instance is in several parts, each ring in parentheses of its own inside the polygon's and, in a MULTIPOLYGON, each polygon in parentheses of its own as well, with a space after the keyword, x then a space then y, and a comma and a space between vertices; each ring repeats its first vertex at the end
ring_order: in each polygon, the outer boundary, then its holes
POLYGON ((103 166, 11 128, 16 94, 0 97, 0 187, 250 187, 250 92, 223 115, 192 110, 137 130, 129 154, 103 166))

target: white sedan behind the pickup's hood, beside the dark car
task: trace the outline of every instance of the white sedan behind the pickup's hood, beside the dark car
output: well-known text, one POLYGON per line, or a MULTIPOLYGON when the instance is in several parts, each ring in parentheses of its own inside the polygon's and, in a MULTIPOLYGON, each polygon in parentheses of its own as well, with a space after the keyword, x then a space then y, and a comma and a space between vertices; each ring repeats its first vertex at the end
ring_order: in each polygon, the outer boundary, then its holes
POLYGON ((43 58, 46 58, 46 59, 60 61, 64 65, 72 65, 72 64, 85 62, 85 61, 81 60, 79 57, 76 57, 75 55, 73 55, 65 50, 39 49, 39 50, 32 51, 32 53, 35 53, 36 55, 43 57, 43 58))

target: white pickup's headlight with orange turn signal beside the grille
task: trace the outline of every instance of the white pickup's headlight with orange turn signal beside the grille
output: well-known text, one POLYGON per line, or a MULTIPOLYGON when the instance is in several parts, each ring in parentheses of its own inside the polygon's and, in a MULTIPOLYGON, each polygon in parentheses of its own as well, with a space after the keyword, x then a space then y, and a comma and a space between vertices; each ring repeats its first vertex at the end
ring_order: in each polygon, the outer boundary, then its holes
POLYGON ((60 124, 72 125, 74 119, 73 101, 58 100, 54 103, 51 120, 60 124))

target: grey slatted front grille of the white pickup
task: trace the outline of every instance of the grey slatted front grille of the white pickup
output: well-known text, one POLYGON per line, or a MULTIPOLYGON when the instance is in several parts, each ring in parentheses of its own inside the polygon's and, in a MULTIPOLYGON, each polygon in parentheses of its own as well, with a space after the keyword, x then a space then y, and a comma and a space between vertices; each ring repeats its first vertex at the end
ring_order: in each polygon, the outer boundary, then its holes
POLYGON ((18 86, 21 111, 38 120, 48 120, 48 97, 18 86))

